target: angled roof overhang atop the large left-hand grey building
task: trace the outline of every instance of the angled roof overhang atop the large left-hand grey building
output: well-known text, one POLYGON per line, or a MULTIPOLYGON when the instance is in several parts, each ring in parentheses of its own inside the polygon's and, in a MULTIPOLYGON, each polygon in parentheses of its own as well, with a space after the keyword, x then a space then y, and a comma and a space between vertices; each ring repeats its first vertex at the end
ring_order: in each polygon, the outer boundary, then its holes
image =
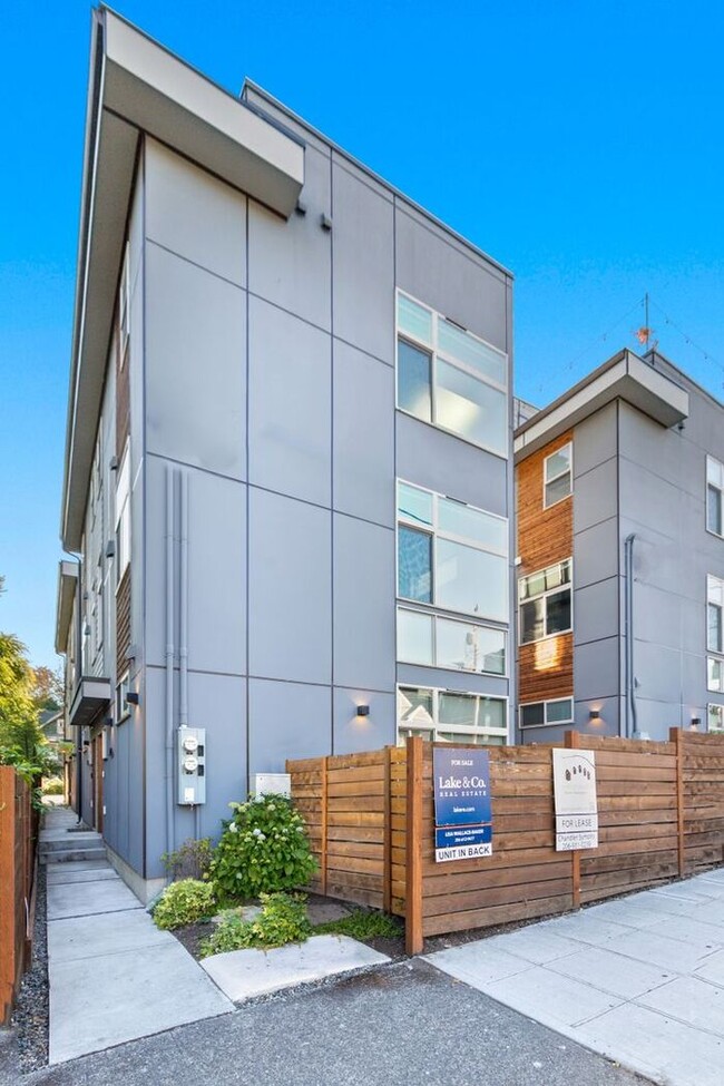
POLYGON ((287 218, 304 145, 107 8, 92 13, 61 538, 80 549, 139 137, 287 218))

